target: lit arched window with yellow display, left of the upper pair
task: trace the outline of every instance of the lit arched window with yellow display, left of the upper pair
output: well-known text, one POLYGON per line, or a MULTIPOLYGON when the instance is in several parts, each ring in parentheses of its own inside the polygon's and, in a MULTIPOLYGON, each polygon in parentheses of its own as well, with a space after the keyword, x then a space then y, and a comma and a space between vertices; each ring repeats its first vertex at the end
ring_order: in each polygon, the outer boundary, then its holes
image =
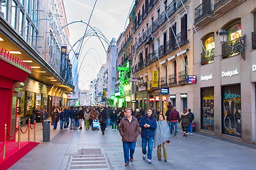
POLYGON ((215 41, 214 35, 211 34, 204 39, 204 50, 201 53, 201 64, 209 64, 214 62, 215 57, 215 41))

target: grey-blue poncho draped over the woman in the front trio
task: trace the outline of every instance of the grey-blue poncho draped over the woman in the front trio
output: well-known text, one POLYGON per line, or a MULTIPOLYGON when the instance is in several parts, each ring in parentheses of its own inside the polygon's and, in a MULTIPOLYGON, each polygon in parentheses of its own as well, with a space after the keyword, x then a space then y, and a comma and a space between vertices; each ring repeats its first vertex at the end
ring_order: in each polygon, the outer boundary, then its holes
POLYGON ((169 143, 170 141, 169 134, 170 134, 169 125, 167 121, 158 120, 157 128, 155 129, 155 135, 154 135, 154 148, 157 147, 158 145, 162 145, 165 142, 169 143))

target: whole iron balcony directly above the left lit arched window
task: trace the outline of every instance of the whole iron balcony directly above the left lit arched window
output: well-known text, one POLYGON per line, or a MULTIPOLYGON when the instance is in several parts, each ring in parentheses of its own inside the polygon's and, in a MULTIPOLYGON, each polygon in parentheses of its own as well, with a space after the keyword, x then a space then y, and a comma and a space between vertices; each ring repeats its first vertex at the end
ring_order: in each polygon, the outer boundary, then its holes
POLYGON ((196 26, 204 26, 213 18, 213 10, 211 8, 211 0, 205 0, 197 6, 194 11, 196 26))

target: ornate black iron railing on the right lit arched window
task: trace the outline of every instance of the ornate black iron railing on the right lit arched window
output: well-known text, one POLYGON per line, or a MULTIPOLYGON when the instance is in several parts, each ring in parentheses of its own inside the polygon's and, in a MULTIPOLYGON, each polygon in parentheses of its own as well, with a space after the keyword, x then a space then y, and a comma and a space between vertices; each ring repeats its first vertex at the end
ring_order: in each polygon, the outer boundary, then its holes
POLYGON ((222 44, 222 57, 230 57, 240 54, 245 60, 245 36, 222 44))

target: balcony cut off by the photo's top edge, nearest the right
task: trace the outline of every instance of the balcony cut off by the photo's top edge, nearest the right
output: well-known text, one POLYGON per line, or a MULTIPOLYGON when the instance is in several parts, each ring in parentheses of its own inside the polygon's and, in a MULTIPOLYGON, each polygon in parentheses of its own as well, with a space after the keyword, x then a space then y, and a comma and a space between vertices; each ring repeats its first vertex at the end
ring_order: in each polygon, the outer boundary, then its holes
POLYGON ((214 0, 214 12, 225 13, 243 0, 214 0))

